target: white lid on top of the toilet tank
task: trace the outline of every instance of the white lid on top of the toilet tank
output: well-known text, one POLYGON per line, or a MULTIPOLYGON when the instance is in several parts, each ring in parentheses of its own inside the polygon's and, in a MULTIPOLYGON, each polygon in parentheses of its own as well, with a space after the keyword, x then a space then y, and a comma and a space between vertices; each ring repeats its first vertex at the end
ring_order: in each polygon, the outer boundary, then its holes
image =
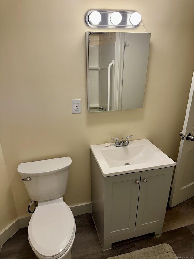
POLYGON ((72 160, 69 156, 27 162, 18 165, 18 173, 22 176, 44 176, 68 169, 72 160))

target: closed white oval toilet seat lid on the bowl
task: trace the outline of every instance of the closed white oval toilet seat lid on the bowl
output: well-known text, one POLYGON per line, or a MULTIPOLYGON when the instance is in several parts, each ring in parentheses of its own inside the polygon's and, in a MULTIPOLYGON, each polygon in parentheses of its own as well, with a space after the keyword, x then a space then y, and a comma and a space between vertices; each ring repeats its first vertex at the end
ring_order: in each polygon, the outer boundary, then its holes
POLYGON ((59 258, 72 247, 75 219, 65 202, 38 206, 28 226, 28 239, 40 258, 59 258))

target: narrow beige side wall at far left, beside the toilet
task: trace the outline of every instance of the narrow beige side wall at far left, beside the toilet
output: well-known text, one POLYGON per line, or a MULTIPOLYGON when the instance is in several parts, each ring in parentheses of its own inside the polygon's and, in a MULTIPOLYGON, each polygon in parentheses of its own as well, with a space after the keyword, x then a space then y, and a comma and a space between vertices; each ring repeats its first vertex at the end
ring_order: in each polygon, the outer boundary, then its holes
MULTIPOLYGON (((0 233, 17 217, 14 197, 10 187, 5 161, 0 143, 0 233)), ((1 246, 1 244, 0 244, 1 246)))

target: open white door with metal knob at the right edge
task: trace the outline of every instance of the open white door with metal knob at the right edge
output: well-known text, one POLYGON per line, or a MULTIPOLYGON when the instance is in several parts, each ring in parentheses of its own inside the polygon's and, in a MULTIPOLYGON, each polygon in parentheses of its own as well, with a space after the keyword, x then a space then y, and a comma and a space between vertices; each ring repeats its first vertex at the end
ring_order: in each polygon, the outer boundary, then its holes
POLYGON ((169 206, 194 196, 194 73, 176 162, 169 206))

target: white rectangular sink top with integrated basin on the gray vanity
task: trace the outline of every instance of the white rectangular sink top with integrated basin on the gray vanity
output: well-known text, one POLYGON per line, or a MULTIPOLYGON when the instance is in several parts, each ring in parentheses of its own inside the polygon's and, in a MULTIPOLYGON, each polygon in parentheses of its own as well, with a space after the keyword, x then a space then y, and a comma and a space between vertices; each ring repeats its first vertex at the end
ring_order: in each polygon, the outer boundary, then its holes
POLYGON ((129 146, 90 146, 104 176, 175 166, 176 163, 148 139, 129 141, 129 146), (127 164, 127 165, 126 165, 127 164))

